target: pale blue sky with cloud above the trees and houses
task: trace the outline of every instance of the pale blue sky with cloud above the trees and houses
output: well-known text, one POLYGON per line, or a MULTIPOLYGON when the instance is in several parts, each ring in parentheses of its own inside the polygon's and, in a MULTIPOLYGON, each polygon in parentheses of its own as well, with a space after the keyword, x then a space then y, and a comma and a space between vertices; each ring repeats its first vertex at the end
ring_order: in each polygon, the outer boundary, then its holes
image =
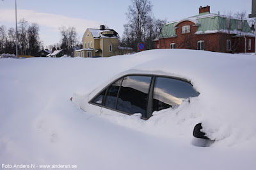
MULTIPOLYGON (((81 40, 87 28, 105 24, 122 36, 127 23, 127 8, 130 0, 17 0, 17 20, 25 19, 40 26, 40 39, 44 46, 60 42, 61 26, 74 26, 81 40)), ((245 11, 252 12, 252 0, 152 0, 156 18, 168 21, 184 19, 198 14, 200 6, 211 6, 211 13, 225 15, 245 11)), ((0 1, 0 25, 15 27, 15 0, 0 1)))

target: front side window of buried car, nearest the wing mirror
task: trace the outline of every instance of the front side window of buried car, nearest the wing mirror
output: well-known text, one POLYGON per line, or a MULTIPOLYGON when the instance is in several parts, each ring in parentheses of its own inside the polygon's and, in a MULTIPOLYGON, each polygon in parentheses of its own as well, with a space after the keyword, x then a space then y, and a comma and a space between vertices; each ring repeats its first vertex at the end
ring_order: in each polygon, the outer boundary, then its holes
POLYGON ((180 105, 185 98, 197 97, 198 95, 198 92, 189 82, 168 77, 156 77, 153 111, 180 105))

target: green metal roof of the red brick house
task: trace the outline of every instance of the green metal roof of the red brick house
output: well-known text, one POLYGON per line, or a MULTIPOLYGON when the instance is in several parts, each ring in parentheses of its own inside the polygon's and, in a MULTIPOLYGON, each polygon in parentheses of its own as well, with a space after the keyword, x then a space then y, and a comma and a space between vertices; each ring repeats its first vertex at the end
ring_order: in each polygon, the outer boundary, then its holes
MULTIPOLYGON (((191 22, 196 21, 195 25, 197 25, 197 31, 195 34, 207 34, 207 33, 217 33, 217 32, 238 34, 238 31, 237 31, 237 22, 239 21, 238 19, 230 19, 230 28, 227 28, 227 24, 226 24, 227 16, 205 12, 205 13, 200 13, 200 15, 189 17, 183 20, 178 20, 175 22, 164 24, 163 29, 160 35, 158 36, 158 38, 168 38, 168 37, 177 36, 175 34, 175 25, 179 24, 184 20, 190 20, 191 22), (200 24, 197 24, 198 22, 200 24)), ((250 26, 246 20, 244 20, 242 28, 243 28, 242 32, 252 34, 250 26)))

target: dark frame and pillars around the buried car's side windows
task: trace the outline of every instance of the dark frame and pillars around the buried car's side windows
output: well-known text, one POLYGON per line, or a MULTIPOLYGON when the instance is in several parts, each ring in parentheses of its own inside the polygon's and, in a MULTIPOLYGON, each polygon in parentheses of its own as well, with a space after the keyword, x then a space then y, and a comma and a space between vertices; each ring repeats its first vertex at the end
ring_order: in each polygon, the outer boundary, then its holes
MULTIPOLYGON (((127 115, 132 115, 132 114, 129 114, 127 112, 123 112, 123 111, 119 111, 118 109, 113 109, 111 107, 106 107, 105 104, 105 100, 106 100, 106 95, 108 93, 108 89, 109 87, 115 83, 116 81, 118 81, 119 79, 122 79, 122 82, 124 81, 124 77, 129 77, 129 76, 148 76, 148 77, 151 77, 151 81, 150 81, 150 86, 149 86, 149 89, 148 89, 148 98, 147 98, 147 111, 146 111, 146 118, 144 118, 143 116, 141 116, 141 119, 142 120, 148 120, 151 116, 152 116, 152 110, 153 110, 153 95, 154 95, 154 87, 155 87, 155 82, 156 82, 156 77, 166 77, 166 78, 169 78, 169 79, 176 79, 176 80, 179 80, 179 81, 184 81, 184 82, 187 82, 189 83, 193 89, 198 93, 198 95, 200 95, 200 93, 194 88, 193 84, 191 83, 191 81, 188 81, 187 79, 184 79, 184 78, 180 78, 180 77, 175 77, 175 76, 168 76, 168 75, 158 75, 158 74, 150 74, 150 73, 129 73, 129 74, 126 74, 126 75, 122 75, 121 77, 118 77, 117 79, 115 79, 114 81, 110 82, 107 86, 105 86, 105 88, 102 88, 99 93, 97 93, 88 103, 89 104, 92 104, 92 105, 98 105, 99 107, 103 107, 103 108, 106 108, 106 109, 110 109, 112 111, 116 111, 116 112, 120 112, 122 114, 127 114, 127 115), (92 102, 93 100, 95 100, 95 98, 97 98, 98 95, 100 95, 104 90, 105 91, 105 94, 104 94, 104 97, 102 98, 102 103, 101 104, 97 104, 95 102, 92 102)), ((120 88, 118 89, 118 94, 117 94, 117 97, 116 97, 116 100, 118 100, 118 95, 120 93, 120 89, 121 89, 121 86, 122 86, 122 82, 120 84, 120 88)), ((197 96, 198 97, 198 96, 197 96)), ((116 101, 116 107, 117 108, 117 101, 116 101)))

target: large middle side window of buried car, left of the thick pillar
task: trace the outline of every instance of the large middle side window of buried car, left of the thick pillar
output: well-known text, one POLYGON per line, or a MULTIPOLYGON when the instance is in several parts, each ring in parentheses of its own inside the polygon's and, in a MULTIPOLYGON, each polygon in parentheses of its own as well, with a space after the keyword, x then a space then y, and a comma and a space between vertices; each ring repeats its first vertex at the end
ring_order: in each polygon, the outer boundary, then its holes
POLYGON ((124 77, 118 95, 117 110, 128 114, 141 113, 145 117, 151 78, 141 75, 124 77))

